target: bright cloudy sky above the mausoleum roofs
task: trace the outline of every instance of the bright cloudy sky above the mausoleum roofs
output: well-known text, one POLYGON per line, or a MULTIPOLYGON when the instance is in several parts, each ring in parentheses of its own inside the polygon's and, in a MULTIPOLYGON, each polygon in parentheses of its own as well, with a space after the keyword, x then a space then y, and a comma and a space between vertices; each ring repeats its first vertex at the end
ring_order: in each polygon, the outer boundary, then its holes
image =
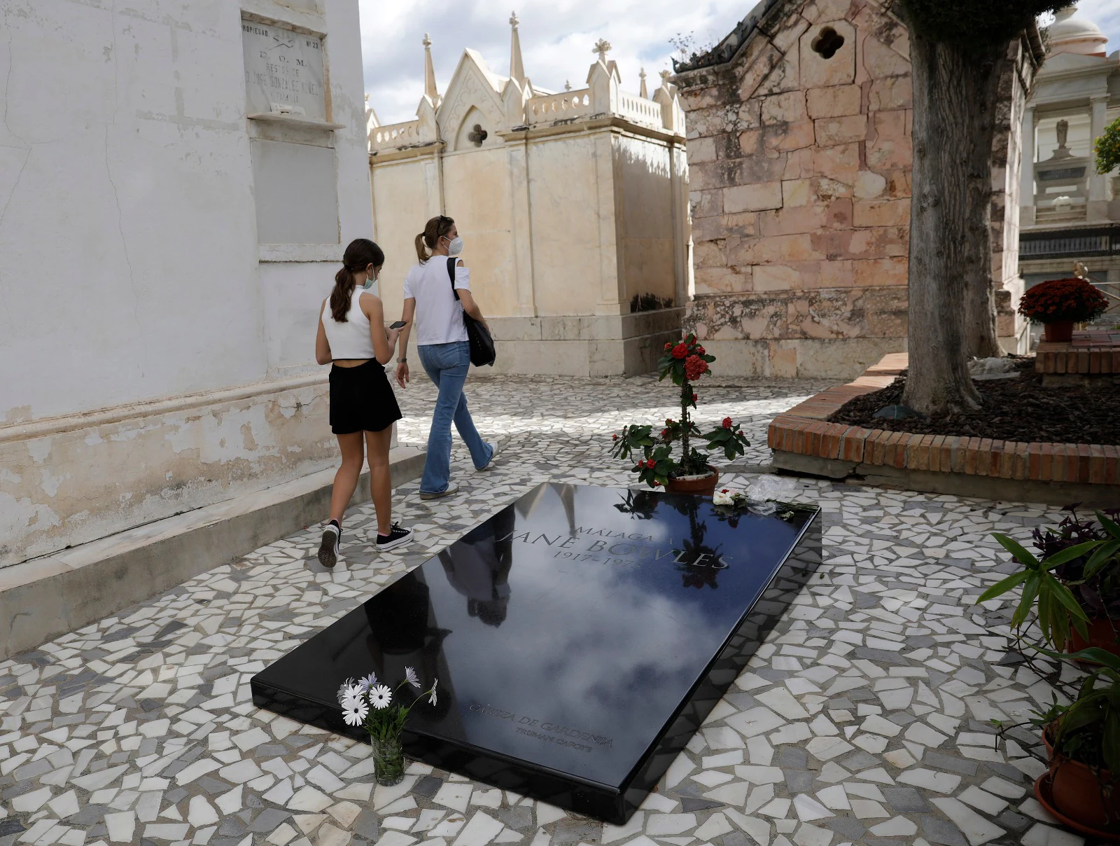
MULTIPOLYGON (((566 80, 582 87, 592 61, 591 45, 612 44, 623 85, 638 89, 644 66, 651 90, 670 68, 670 39, 688 38, 692 48, 718 41, 746 16, 754 0, 358 0, 365 90, 382 123, 411 120, 423 93, 424 32, 431 34, 439 91, 447 89, 464 47, 482 53, 491 69, 510 72, 510 12, 521 20, 525 73, 539 86, 559 91, 566 80)), ((1081 13, 1120 48, 1120 2, 1082 0, 1081 13)))

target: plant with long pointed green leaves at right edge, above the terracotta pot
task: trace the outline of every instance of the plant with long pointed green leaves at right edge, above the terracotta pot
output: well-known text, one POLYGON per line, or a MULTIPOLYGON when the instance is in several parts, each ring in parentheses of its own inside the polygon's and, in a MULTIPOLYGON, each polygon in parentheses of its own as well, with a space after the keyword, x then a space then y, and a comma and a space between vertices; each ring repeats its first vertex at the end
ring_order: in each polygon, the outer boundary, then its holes
POLYGON ((1120 654, 1120 526, 1100 511, 1094 522, 1081 520, 1075 508, 1067 510, 1056 530, 1035 529, 1038 556, 1006 534, 992 536, 1021 568, 977 602, 1021 585, 1023 596, 1011 616, 1020 640, 1034 610, 1043 639, 1060 652, 1099 647, 1120 654))

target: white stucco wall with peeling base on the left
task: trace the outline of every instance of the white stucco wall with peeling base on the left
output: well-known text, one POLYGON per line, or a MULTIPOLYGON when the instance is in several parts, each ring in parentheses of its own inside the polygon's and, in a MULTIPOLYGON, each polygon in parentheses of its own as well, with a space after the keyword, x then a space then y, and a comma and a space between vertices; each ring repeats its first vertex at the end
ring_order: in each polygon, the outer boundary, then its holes
POLYGON ((6 0, 0 13, 0 444, 22 468, 0 475, 0 565, 325 466, 324 387, 300 388, 299 426, 270 409, 321 372, 316 307, 343 244, 372 231, 357 0, 6 0), (243 15, 324 36, 340 129, 246 119, 243 15), (258 243, 256 197, 282 215, 300 196, 254 183, 254 138, 333 158, 337 207, 319 211, 335 223, 307 227, 316 243, 258 243), (205 396, 250 384, 236 455, 185 453, 224 413, 205 396), (197 412, 134 405, 184 394, 203 394, 197 412), (93 409, 147 433, 128 461, 92 429, 52 454, 93 409), (95 472, 113 474, 111 501, 95 472))

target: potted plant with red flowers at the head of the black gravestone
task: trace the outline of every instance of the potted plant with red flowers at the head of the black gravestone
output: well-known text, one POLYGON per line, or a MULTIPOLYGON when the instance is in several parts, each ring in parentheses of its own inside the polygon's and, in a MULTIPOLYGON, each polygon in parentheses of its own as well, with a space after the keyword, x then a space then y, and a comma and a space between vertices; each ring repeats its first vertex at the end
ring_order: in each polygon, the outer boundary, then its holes
POLYGON ((711 494, 719 481, 719 472, 708 464, 703 455, 692 444, 692 438, 704 440, 708 452, 722 450, 728 459, 743 455, 750 446, 743 429, 730 417, 724 418, 718 428, 707 434, 692 421, 690 409, 697 407, 697 392, 693 383, 711 372, 709 364, 716 361, 696 335, 688 335, 680 343, 665 344, 664 355, 657 362, 657 369, 663 381, 669 378, 680 388, 681 419, 665 419, 665 426, 659 436, 653 434, 653 426, 631 424, 612 437, 614 447, 612 455, 616 458, 635 458, 632 470, 638 474, 638 480, 651 487, 664 485, 672 493, 711 494), (680 441, 680 458, 673 457, 673 444, 680 441))

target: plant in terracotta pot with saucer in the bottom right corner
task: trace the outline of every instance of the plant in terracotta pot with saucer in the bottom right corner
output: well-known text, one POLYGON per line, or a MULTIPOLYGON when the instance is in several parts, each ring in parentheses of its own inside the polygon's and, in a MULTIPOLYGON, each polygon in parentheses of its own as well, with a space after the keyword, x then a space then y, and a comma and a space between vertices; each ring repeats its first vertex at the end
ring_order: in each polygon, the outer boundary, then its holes
POLYGON ((1029 721, 1042 727, 1047 769, 1035 782, 1038 801, 1070 827, 1102 839, 1120 839, 1120 657, 1100 649, 1062 656, 1099 664, 1076 698, 1029 721))

